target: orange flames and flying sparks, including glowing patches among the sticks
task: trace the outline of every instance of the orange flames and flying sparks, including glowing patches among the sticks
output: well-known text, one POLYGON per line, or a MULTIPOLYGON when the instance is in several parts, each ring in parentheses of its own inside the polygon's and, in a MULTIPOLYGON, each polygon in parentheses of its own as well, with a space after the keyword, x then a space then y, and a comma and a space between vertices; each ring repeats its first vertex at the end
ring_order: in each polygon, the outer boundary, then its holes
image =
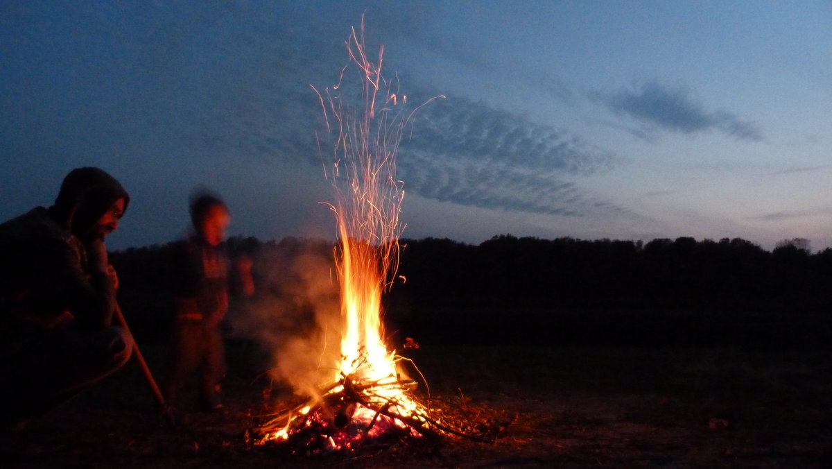
MULTIPOLYGON (((411 422, 428 422, 428 409, 406 392, 409 385, 399 379, 396 367, 399 358, 384 344, 381 300, 396 278, 399 236, 404 230, 399 222, 404 182, 395 174, 399 142, 415 112, 435 97, 409 113, 397 107, 404 106, 407 97, 391 91, 390 83, 382 77, 384 47, 379 47, 377 62, 367 57, 364 17, 359 32, 352 29, 346 47, 350 64, 359 72, 362 92, 359 108, 351 106, 352 95, 343 86, 349 66, 341 70, 338 85, 331 90, 326 88, 324 94, 312 87, 323 108, 327 132, 334 136, 331 166, 324 164, 324 173, 335 193, 334 203, 329 207, 334 212, 339 235, 335 260, 344 326, 340 362, 334 363, 333 381, 324 388, 329 389, 330 395, 360 388, 360 400, 368 407, 357 408, 351 418, 369 423, 368 432, 371 428, 380 432, 379 426, 374 427, 373 423, 379 414, 387 411, 379 409, 389 409, 392 415, 406 417, 411 422), (369 407, 376 410, 371 411, 369 407)), ((321 136, 316 137, 321 147, 321 136)), ((409 339, 409 346, 418 347, 418 344, 409 339)), ((322 399, 319 397, 319 400, 322 399)), ((310 407, 304 407, 300 414, 307 412, 310 407)), ((290 417, 286 427, 272 437, 288 439, 293 420, 290 417)), ((399 421, 394 425, 404 427, 399 421)), ((339 447, 340 443, 332 438, 329 437, 331 446, 339 447)))

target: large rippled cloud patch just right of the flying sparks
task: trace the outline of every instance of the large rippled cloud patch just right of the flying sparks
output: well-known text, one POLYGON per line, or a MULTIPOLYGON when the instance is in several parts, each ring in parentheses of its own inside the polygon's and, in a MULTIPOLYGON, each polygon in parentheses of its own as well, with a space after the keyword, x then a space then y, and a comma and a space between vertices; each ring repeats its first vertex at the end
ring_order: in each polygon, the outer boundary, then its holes
POLYGON ((442 202, 565 216, 626 210, 576 183, 611 169, 611 152, 464 98, 423 108, 398 161, 407 190, 442 202))

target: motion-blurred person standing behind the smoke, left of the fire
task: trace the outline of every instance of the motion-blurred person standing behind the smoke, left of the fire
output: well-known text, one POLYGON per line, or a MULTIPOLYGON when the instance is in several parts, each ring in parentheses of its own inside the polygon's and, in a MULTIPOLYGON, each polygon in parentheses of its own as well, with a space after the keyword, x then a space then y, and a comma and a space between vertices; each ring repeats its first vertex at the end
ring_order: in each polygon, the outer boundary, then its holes
MULTIPOLYGON (((194 234, 177 256, 173 268, 175 293, 173 361, 166 385, 166 400, 175 406, 176 394, 197 372, 199 407, 206 412, 223 408, 220 383, 225 377, 225 347, 220 322, 228 312, 230 262, 225 253, 225 229, 231 221, 220 197, 199 193, 191 198, 194 234)), ((246 295, 254 292, 251 262, 236 263, 246 295)))

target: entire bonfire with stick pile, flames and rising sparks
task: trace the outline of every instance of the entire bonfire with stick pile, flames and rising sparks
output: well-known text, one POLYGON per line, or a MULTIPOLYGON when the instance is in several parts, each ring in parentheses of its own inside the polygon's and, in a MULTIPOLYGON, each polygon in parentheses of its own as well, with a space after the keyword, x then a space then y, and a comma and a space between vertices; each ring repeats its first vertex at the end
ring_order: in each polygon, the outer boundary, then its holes
MULTIPOLYGON (((250 430, 249 440, 305 454, 352 452, 370 442, 391 439, 437 442, 450 435, 493 442, 500 427, 483 425, 481 413, 468 412, 461 418, 466 412, 448 412, 420 402, 416 382, 399 367, 404 359, 384 340, 382 294, 393 285, 404 229, 399 222, 404 182, 395 175, 396 153, 415 112, 438 97, 412 111, 404 110, 407 97, 391 90, 381 73, 384 47, 379 48, 377 62, 368 59, 363 18, 359 32, 353 28, 346 48, 348 67, 359 72, 359 106, 350 106, 352 95, 341 89, 340 82, 323 92, 313 87, 327 132, 334 137, 330 141, 319 136, 318 140, 324 161, 331 161, 324 167, 335 193, 330 207, 339 234, 334 256, 344 322, 340 358, 322 364, 332 370, 329 382, 307 390, 310 397, 305 401, 285 405, 283 412, 268 416, 250 430)), ((418 347, 412 340, 409 344, 418 347)))

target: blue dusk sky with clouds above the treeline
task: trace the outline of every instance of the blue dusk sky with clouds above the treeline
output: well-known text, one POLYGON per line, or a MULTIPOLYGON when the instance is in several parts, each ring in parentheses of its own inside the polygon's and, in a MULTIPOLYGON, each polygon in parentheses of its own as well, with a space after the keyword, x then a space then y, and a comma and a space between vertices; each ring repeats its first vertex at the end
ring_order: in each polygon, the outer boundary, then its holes
POLYGON ((97 166, 111 249, 185 236, 197 187, 231 235, 334 238, 315 89, 362 14, 415 110, 404 237, 832 246, 828 1, 0 0, 0 220, 97 166))

